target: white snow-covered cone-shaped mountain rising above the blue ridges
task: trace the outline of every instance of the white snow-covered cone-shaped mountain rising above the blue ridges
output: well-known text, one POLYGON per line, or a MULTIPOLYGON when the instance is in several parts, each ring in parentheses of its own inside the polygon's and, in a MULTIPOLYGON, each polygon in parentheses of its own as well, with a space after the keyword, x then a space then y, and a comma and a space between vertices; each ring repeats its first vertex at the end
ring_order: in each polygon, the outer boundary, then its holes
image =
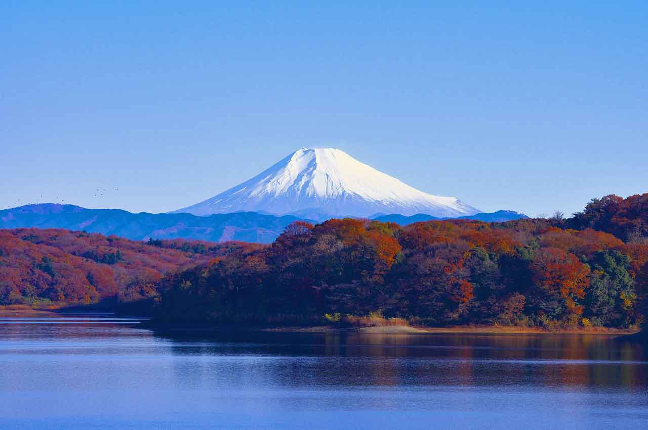
POLYGON ((479 212, 455 197, 419 191, 334 148, 301 148, 246 182, 176 212, 236 211, 318 211, 338 217, 379 212, 460 217, 479 212))

